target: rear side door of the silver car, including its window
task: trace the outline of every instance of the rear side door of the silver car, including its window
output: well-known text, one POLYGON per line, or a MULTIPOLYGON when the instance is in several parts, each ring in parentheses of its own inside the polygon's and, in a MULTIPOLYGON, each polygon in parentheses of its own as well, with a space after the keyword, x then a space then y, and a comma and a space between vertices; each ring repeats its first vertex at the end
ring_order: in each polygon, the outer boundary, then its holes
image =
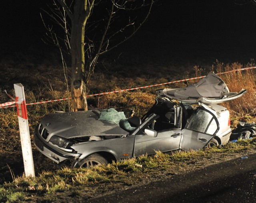
POLYGON ((199 107, 190 117, 181 133, 181 150, 202 149, 220 129, 213 112, 199 107))

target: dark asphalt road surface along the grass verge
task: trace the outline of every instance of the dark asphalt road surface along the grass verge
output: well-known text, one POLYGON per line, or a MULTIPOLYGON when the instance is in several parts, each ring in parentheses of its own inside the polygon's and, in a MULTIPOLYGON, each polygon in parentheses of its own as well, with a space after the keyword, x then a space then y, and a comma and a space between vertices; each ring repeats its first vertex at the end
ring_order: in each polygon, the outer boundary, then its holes
POLYGON ((256 154, 118 191, 88 202, 256 202, 256 154))

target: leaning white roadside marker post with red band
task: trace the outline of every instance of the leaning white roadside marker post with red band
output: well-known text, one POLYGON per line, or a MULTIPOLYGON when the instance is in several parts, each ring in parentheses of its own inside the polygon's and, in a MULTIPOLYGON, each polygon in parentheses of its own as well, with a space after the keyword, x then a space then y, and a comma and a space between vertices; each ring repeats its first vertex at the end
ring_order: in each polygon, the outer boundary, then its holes
POLYGON ((14 91, 16 95, 16 106, 20 127, 20 142, 22 148, 25 176, 35 177, 32 147, 28 127, 28 114, 23 85, 20 83, 14 84, 14 91))

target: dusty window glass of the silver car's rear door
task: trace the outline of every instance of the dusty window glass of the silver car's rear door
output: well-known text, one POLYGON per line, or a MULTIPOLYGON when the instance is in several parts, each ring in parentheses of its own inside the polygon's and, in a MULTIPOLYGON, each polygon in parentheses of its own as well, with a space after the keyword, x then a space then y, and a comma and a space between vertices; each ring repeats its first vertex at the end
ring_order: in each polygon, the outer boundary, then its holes
MULTIPOLYGON (((212 120, 212 117, 213 116, 209 112, 202 110, 202 109, 198 109, 196 114, 194 114, 194 116, 190 120, 190 122, 187 126, 187 129, 204 133, 206 131, 208 124, 212 120)), ((215 120, 214 120, 214 122, 215 122, 215 120)), ((214 128, 214 122, 211 123, 212 126, 210 126, 208 128, 207 133, 212 132, 212 129, 214 128)), ((216 125, 216 122, 215 122, 215 125, 216 125)), ((215 130, 214 130, 214 132, 215 132, 215 130)), ((210 133, 208 133, 208 134, 210 134, 210 133)))

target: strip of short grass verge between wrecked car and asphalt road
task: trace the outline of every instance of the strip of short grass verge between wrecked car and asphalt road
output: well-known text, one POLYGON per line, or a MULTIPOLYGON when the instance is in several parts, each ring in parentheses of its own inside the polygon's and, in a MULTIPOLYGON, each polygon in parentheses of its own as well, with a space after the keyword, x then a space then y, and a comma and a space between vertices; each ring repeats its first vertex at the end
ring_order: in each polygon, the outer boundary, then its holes
POLYGON ((0 185, 0 201, 88 201, 165 176, 184 174, 237 157, 250 156, 255 151, 256 138, 173 155, 157 152, 152 157, 132 158, 93 169, 63 167, 43 170, 35 178, 16 177, 12 173, 13 181, 0 185))

